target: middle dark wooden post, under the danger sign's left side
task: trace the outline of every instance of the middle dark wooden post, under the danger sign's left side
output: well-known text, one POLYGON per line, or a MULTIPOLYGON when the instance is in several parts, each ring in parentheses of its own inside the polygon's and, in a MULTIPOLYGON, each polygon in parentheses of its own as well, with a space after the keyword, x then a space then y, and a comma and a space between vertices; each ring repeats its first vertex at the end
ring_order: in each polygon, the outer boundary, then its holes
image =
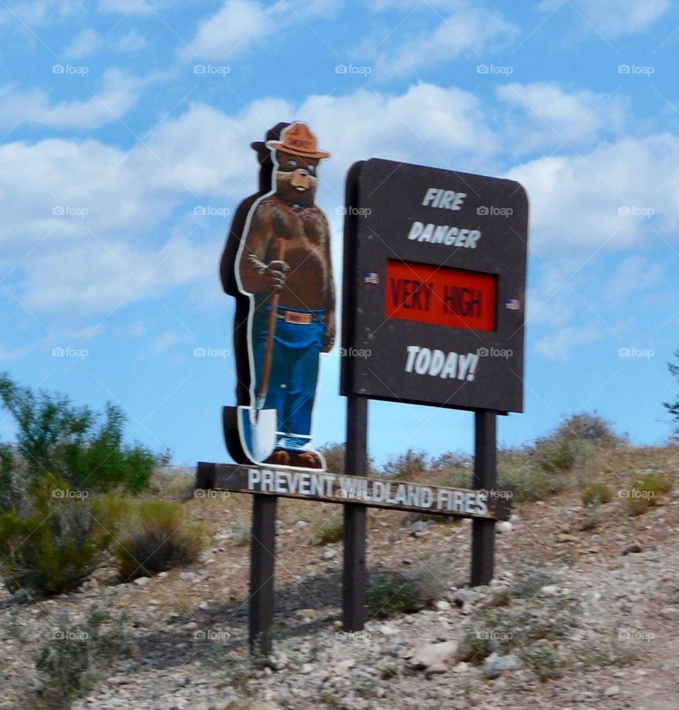
MULTIPOLYGON (((344 473, 368 474, 368 398, 347 396, 347 449, 344 473)), ((366 616, 366 507, 344 505, 342 622, 345 631, 363 629, 366 616)))

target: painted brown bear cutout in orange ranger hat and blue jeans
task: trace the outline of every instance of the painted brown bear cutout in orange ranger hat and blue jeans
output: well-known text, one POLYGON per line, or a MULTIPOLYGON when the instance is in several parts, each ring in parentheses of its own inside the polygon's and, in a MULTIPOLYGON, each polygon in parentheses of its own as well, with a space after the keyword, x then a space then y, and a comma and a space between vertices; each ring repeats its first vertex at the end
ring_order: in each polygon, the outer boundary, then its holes
POLYGON ((252 297, 253 392, 270 366, 264 407, 277 412, 276 447, 258 463, 322 469, 322 456, 310 449, 311 420, 320 354, 335 344, 335 283, 330 226, 315 195, 318 164, 329 154, 300 122, 266 147, 272 151, 274 190, 251 208, 236 262, 239 288, 252 297), (267 364, 272 301, 276 317, 267 364))

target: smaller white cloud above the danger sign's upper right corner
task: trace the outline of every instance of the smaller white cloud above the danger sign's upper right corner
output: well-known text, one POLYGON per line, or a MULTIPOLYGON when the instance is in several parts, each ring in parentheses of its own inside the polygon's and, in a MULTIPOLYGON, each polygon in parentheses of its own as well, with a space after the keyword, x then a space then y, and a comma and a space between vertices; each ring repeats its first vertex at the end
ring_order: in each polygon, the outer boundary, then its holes
POLYGON ((621 133, 626 105, 621 97, 586 89, 566 91, 556 82, 503 84, 497 97, 510 109, 505 119, 516 152, 590 146, 603 135, 621 133))

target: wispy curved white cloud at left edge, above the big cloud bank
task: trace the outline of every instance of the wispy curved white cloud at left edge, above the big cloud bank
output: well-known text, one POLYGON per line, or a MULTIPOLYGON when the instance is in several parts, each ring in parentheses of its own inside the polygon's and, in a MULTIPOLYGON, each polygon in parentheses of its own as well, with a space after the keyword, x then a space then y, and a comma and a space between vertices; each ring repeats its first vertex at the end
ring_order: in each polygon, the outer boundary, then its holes
MULTIPOLYGON (((56 75, 60 80, 60 75, 56 75)), ((56 129, 90 130, 121 119, 137 102, 141 89, 154 80, 131 77, 115 67, 104 72, 96 94, 86 87, 85 100, 50 102, 51 92, 21 91, 11 84, 0 87, 3 103, 1 125, 6 128, 26 122, 56 129)))

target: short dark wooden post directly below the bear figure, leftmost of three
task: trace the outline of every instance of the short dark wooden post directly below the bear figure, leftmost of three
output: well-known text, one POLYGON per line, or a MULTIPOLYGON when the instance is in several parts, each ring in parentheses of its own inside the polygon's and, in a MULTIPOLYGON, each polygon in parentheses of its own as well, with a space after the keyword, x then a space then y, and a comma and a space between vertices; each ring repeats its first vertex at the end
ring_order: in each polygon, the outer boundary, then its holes
POLYGON ((250 541, 250 652, 271 654, 273 570, 276 560, 276 496, 254 496, 250 541))

